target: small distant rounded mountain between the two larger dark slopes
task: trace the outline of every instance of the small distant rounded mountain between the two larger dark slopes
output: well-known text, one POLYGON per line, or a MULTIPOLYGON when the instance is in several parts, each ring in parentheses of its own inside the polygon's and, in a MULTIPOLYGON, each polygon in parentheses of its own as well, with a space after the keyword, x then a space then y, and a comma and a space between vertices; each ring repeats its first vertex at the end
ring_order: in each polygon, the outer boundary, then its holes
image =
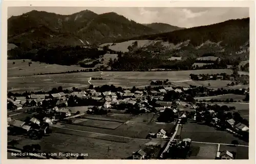
POLYGON ((166 24, 166 23, 150 23, 150 24, 143 24, 148 26, 151 29, 154 29, 156 31, 159 31, 160 33, 166 33, 166 32, 172 32, 176 30, 181 30, 185 28, 180 28, 178 26, 166 24))

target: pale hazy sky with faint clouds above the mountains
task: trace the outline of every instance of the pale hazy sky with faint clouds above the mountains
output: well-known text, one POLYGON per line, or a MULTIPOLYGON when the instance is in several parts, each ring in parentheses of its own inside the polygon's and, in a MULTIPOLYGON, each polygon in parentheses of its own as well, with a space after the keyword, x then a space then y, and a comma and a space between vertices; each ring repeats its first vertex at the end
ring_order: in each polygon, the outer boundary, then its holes
POLYGON ((138 7, 9 7, 8 17, 38 10, 70 15, 82 10, 97 14, 116 12, 138 23, 161 22, 183 28, 222 22, 228 19, 249 17, 249 8, 138 8, 138 7))

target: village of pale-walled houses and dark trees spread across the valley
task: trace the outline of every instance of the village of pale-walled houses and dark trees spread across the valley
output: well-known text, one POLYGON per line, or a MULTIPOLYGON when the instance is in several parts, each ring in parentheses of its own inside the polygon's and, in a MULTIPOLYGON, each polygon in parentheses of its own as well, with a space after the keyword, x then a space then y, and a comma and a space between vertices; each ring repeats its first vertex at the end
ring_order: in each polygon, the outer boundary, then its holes
MULTIPOLYGON (((157 81, 153 83, 157 83, 157 81)), ((196 99, 195 96, 191 97, 187 94, 188 91, 194 91, 194 93, 198 91, 198 88, 191 87, 154 88, 152 86, 152 88, 146 87, 145 89, 137 89, 136 87, 122 89, 113 85, 101 87, 91 85, 90 89, 82 91, 73 88, 73 91, 69 91, 69 93, 63 92, 61 87, 55 89, 55 93, 48 94, 25 93, 24 96, 15 96, 15 94, 9 93, 7 105, 8 135, 23 133, 28 135, 31 140, 40 140, 44 136, 51 135, 56 129, 55 125, 59 122, 73 124, 72 119, 80 118, 83 115, 104 116, 115 113, 115 111, 122 111, 131 116, 153 114, 157 117, 155 122, 173 123, 174 125, 171 129, 161 128, 144 135, 144 139, 161 140, 161 143, 158 142, 159 145, 155 145, 154 148, 146 147, 131 152, 130 158, 133 159, 189 158, 194 151, 190 148, 194 139, 181 138, 180 133, 182 133, 183 126, 187 126, 193 121, 226 131, 226 133, 236 136, 238 140, 248 142, 248 121, 238 113, 230 113, 229 111, 233 110, 232 106, 206 105, 196 99), (78 108, 75 112, 70 109, 74 106, 78 108), (86 110, 79 110, 79 106, 87 106, 87 108, 86 110), (158 147, 158 153, 153 151, 156 147, 158 147), (152 155, 152 151, 155 152, 154 155, 152 155)), ((206 87, 203 92, 199 91, 199 95, 207 96, 207 90, 210 92, 210 89, 206 87)), ((249 90, 240 91, 244 92, 244 95, 249 92, 249 90)), ((152 122, 152 120, 148 121, 148 118, 143 121, 152 122)), ((197 141, 197 139, 195 140, 197 141)), ((237 140, 233 140, 230 141, 229 145, 236 146, 239 143, 237 140)), ((236 153, 229 150, 220 151, 219 147, 217 152, 212 153, 216 153, 216 159, 236 159, 236 153)))

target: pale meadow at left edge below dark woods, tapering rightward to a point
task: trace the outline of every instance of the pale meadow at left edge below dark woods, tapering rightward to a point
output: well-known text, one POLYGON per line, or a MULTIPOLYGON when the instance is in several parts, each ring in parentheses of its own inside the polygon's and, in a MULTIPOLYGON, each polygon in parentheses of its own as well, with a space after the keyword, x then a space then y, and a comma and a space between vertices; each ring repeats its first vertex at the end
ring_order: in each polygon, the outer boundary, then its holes
POLYGON ((50 72, 67 72, 73 70, 81 70, 84 69, 78 66, 62 66, 57 64, 46 64, 39 62, 32 62, 29 66, 29 62, 31 60, 26 59, 25 63, 23 60, 8 60, 7 61, 7 76, 15 77, 15 76, 28 76, 34 75, 38 73, 50 73, 50 72), (15 62, 15 64, 13 64, 15 62))

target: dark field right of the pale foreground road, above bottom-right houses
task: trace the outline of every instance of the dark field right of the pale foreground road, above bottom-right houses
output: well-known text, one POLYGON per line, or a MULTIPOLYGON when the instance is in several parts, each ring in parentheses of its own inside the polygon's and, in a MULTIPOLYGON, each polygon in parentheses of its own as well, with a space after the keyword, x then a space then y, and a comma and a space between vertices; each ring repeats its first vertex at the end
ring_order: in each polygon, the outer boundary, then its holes
POLYGON ((190 138, 196 142, 231 144, 232 140, 237 140, 241 145, 248 145, 248 142, 242 141, 227 131, 220 131, 214 127, 201 125, 188 121, 182 126, 181 139, 190 138))

